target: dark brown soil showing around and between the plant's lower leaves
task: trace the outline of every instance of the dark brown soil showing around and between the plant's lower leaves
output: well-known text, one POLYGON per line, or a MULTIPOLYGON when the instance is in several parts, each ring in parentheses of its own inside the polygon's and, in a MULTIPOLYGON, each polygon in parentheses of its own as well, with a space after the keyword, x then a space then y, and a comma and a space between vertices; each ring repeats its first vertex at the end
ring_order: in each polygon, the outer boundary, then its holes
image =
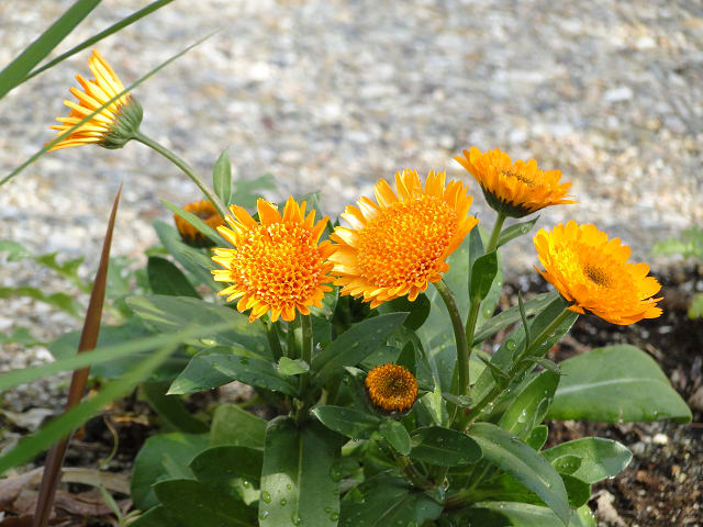
MULTIPOLYGON (((573 421, 549 425, 548 445, 600 436, 621 441, 633 451, 633 461, 625 471, 593 487, 590 506, 602 526, 703 526, 703 319, 692 321, 685 314, 691 292, 702 289, 702 272, 688 267, 658 278, 665 296, 661 317, 632 326, 615 326, 592 315, 581 316, 571 333, 549 351, 549 358, 560 361, 601 346, 635 345, 658 361, 693 411, 693 422, 688 425, 670 422, 610 425, 573 421)), ((506 283, 501 305, 514 305, 518 289, 529 298, 547 291, 548 287, 536 274, 521 277, 506 283)), ((223 391, 211 391, 196 395, 189 405, 194 412, 208 411, 222 397, 230 399, 223 391)), ((141 446, 157 429, 154 413, 133 394, 86 424, 74 439, 65 466, 97 467, 110 458, 107 470, 127 478, 141 446), (111 452, 115 438, 118 448, 111 452)), ((37 458, 35 463, 41 466, 43 459, 37 458)), ((67 490, 88 495, 90 489, 70 484, 67 490)), ((120 504, 129 507, 129 496, 116 497, 123 498, 120 504)), ((96 519, 98 523, 80 525, 112 523, 104 515, 96 519)), ((69 520, 65 525, 79 524, 69 520)))

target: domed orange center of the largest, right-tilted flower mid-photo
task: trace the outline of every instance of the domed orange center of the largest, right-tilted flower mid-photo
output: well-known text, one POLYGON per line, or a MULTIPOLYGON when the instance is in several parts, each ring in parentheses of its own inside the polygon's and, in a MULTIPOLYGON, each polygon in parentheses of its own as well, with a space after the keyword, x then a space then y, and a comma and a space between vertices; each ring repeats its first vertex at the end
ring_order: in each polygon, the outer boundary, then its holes
POLYGON ((361 277, 379 288, 426 281, 456 227, 456 213, 432 195, 382 209, 359 233, 361 277))

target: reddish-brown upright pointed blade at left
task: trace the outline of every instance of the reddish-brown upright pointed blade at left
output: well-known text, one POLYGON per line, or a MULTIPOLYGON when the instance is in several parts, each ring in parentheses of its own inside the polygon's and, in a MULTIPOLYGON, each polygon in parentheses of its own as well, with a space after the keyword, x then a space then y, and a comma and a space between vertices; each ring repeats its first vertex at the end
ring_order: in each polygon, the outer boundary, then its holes
MULTIPOLYGON (((114 221, 118 215, 118 206, 120 204, 120 194, 122 193, 122 183, 114 197, 110 221, 108 222, 108 231, 102 242, 102 254, 100 255, 100 265, 96 272, 92 291, 90 292, 90 302, 86 312, 83 322, 83 330, 80 334, 80 343, 78 344, 78 352, 94 349, 98 344, 98 335, 100 334, 100 321, 102 319, 102 306, 105 300, 105 288, 108 284, 108 266, 110 265, 110 248, 112 247, 112 233, 114 231, 114 221)), ((74 371, 68 390, 68 402, 66 408, 72 408, 83 397, 86 384, 90 367, 85 367, 74 371)), ((48 452, 44 463, 44 474, 42 475, 42 484, 40 485, 40 495, 36 500, 36 508, 34 509, 33 527, 44 527, 48 522, 52 505, 58 480, 64 464, 64 456, 68 447, 69 436, 63 436, 56 441, 52 450, 48 452)))

